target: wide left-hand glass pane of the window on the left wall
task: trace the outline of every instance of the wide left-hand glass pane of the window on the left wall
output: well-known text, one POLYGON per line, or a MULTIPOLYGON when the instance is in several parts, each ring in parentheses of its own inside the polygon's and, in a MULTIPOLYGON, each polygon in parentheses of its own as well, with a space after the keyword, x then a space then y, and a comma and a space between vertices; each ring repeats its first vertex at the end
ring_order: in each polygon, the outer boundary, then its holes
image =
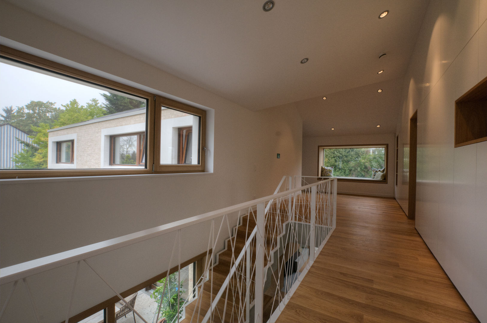
POLYGON ((4 58, 0 70, 1 169, 146 167, 147 99, 4 58), (111 138, 127 134, 113 163, 111 138))

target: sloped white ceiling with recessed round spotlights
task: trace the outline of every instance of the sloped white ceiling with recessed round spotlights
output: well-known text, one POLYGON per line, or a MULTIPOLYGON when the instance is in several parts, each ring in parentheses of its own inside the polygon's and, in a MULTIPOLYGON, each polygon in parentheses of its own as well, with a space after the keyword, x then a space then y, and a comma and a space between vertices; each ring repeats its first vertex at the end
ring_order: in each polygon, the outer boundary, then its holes
MULTIPOLYGON (((340 104, 370 113, 377 103, 351 89, 390 82, 399 95, 396 80, 406 70, 428 4, 275 0, 274 9, 264 12, 263 0, 9 2, 250 110, 301 105, 323 95, 336 107, 331 94, 349 90, 340 104), (378 19, 384 10, 389 15, 378 19), (381 53, 387 56, 379 60, 381 53), (309 61, 300 64, 304 57, 309 61)), ((388 97, 384 102, 393 104, 390 95, 382 99, 388 97)), ((302 107, 304 133, 319 135, 314 125, 318 110, 307 108, 302 107)), ((395 118, 397 107, 389 108, 395 118)), ((359 122, 351 109, 346 111, 348 124, 359 122)))

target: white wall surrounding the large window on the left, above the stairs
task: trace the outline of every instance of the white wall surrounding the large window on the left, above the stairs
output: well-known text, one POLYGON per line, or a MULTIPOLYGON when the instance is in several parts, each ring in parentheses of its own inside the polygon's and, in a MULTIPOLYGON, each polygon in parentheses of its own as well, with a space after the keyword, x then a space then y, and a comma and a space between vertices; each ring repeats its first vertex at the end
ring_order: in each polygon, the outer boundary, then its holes
MULTIPOLYGON (((210 172, 0 180, 1 268, 270 195, 283 175, 300 175, 302 121, 295 109, 251 112, 9 3, 0 1, 0 6, 3 44, 206 109, 210 172)), ((183 232, 182 259, 206 250, 205 234, 183 232)), ((172 242, 152 239, 93 262, 125 290, 168 268, 172 242)), ((75 268, 70 270, 32 278, 35 302, 44 311, 41 322, 65 319, 70 295, 65 286, 71 286, 75 268)), ((79 279, 73 313, 113 295, 85 265, 79 279)), ((24 306, 26 299, 20 287, 11 302, 24 306)), ((29 313, 15 311, 1 322, 32 322, 29 313)))

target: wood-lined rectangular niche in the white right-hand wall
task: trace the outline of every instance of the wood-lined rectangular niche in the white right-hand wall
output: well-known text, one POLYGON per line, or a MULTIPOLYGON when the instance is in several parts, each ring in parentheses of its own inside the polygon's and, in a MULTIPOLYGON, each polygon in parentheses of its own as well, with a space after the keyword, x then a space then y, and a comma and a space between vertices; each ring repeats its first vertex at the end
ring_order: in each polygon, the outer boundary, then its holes
POLYGON ((487 77, 455 101, 455 147, 487 141, 487 77))

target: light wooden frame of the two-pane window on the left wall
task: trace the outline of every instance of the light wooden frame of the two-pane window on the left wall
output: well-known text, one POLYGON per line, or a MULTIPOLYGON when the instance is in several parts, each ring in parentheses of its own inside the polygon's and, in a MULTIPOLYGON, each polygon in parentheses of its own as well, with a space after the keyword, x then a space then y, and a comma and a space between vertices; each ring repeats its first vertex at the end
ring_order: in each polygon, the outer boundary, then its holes
MULTIPOLYGON (((146 168, 98 168, 98 169, 12 169, 2 170, 0 179, 16 178, 45 178, 45 177, 76 177, 76 176, 107 176, 107 175, 143 175, 143 174, 166 174, 166 173, 197 173, 205 171, 205 134, 206 134, 206 111, 188 106, 186 104, 150 93, 144 90, 118 83, 104 77, 75 68, 59 64, 32 54, 19 50, 0 46, 2 58, 14 62, 26 64, 31 67, 44 69, 49 72, 72 77, 81 81, 89 82, 98 86, 106 87, 107 90, 116 90, 147 100, 146 108, 146 168), (155 107, 167 107, 200 117, 199 127, 199 164, 160 164, 160 136, 161 136, 161 109, 155 107), (158 122, 156 122, 158 120, 158 122)), ((194 134, 193 134, 194 135, 194 134)), ((194 137, 193 137, 194 140, 194 137)), ((101 165, 101 167, 104 167, 101 165)))

